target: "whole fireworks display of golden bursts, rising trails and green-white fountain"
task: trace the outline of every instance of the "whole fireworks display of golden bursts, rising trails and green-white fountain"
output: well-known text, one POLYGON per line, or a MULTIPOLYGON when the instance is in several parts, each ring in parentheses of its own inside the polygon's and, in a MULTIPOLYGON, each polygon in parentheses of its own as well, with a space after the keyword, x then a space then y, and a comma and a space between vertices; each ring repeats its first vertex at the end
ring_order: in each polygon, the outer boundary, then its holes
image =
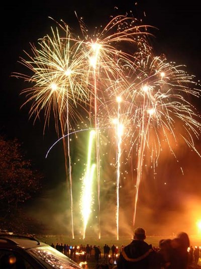
POLYGON ((31 84, 21 92, 26 96, 22 106, 31 103, 30 118, 44 116, 44 132, 53 118, 59 140, 63 141, 72 238, 74 178, 70 141, 72 136, 79 139, 82 130, 86 136, 90 132, 87 165, 80 181, 82 236, 87 234, 95 199, 98 237, 101 236, 100 193, 107 169, 111 174, 116 171, 114 227, 119 239, 120 188, 124 181, 135 182, 130 201, 135 226, 145 156, 156 167, 165 144, 177 159, 174 146, 180 140, 199 155, 194 139, 199 139, 200 117, 191 104, 192 98, 200 97, 199 85, 184 66, 168 62, 165 55, 154 54, 149 42, 154 27, 142 25, 136 18, 117 16, 99 30, 87 29, 78 19, 77 33, 63 21, 52 22, 56 26, 50 33, 36 45, 31 44, 30 52, 20 58, 27 73, 13 74, 31 84), (130 174, 123 177, 124 162, 130 174), (135 176, 133 170, 137 171, 135 176))

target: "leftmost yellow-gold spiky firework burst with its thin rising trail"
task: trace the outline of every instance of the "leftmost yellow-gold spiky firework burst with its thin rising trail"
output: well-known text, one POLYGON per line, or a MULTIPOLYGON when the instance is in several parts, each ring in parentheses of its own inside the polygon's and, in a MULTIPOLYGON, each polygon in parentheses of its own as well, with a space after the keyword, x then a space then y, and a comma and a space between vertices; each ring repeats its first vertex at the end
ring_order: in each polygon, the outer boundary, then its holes
POLYGON ((69 125, 72 124, 72 121, 81 119, 80 112, 78 113, 75 108, 78 106, 82 108, 82 102, 88 98, 88 91, 85 84, 83 84, 83 81, 86 80, 84 78, 86 72, 83 68, 82 57, 80 56, 80 45, 74 42, 70 46, 72 42, 70 42, 68 27, 66 27, 64 34, 65 36, 61 38, 58 29, 56 32, 52 29, 53 38, 47 35, 40 39, 38 43, 40 49, 32 45, 33 56, 26 53, 30 60, 22 59, 22 63, 34 72, 33 76, 15 75, 35 83, 33 87, 22 91, 22 94, 26 94, 28 97, 25 104, 33 102, 30 109, 30 117, 36 114, 36 118, 39 118, 40 112, 45 110, 45 129, 46 125, 49 125, 52 109, 58 135, 60 133, 59 126, 61 128, 66 182, 67 184, 69 182, 70 185, 68 190, 70 192, 72 238, 74 238, 69 136, 67 137, 68 142, 66 146, 64 135, 66 126, 67 133, 69 133, 69 125), (71 115, 70 120, 69 115, 71 115), (69 163, 68 165, 67 162, 69 163))

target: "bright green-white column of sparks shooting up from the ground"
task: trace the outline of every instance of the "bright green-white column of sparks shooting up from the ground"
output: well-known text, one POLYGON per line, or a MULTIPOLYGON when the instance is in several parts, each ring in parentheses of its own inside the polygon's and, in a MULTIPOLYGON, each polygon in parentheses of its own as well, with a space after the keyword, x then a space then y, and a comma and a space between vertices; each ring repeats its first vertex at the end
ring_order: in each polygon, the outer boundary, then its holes
POLYGON ((91 165, 91 153, 93 147, 93 139, 95 136, 95 131, 90 131, 89 142, 88 142, 88 154, 87 154, 87 165, 86 173, 83 178, 83 192, 81 197, 81 213, 83 219, 83 239, 85 238, 86 226, 88 223, 89 215, 91 212, 92 204, 92 180, 95 170, 95 164, 91 165))

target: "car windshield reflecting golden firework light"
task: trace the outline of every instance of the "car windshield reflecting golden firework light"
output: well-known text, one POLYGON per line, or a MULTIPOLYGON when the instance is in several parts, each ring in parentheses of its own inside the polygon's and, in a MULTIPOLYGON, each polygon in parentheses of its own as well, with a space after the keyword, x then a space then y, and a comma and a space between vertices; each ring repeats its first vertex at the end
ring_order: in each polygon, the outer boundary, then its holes
POLYGON ((81 268, 73 260, 68 258, 63 253, 54 249, 51 246, 41 246, 28 249, 28 252, 36 259, 40 260, 45 266, 49 265, 49 268, 58 269, 79 269, 81 268))

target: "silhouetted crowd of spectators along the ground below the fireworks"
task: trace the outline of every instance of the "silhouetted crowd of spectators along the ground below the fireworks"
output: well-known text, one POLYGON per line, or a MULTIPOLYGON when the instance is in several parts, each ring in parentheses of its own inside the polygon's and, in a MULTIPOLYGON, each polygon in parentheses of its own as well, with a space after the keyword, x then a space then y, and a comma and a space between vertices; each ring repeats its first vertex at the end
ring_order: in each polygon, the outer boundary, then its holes
MULTIPOLYGON (((175 237, 173 239, 162 239, 159 241, 157 246, 149 245, 148 248, 154 252, 155 256, 152 255, 152 259, 157 259, 157 264, 155 263, 151 267, 139 267, 137 265, 136 268, 153 268, 153 269, 163 269, 163 268, 175 268, 175 269, 183 269, 183 268, 201 268, 201 246, 192 246, 190 245, 189 238, 186 233, 180 233, 180 237, 175 237), (183 241, 182 241, 183 240, 183 241), (182 242, 182 243, 181 243, 182 242), (182 247, 180 245, 182 244, 182 247), (180 247, 180 248, 178 248, 180 247), (173 263, 175 264, 173 267, 173 263), (183 264, 183 265, 182 265, 183 264), (184 265, 187 264, 187 265, 184 265)), ((146 237, 145 237, 146 238, 146 237)), ((145 239, 144 238, 144 239, 145 239)), ((137 238, 134 238, 133 242, 138 242, 137 238)), ((144 241, 144 240, 142 240, 144 241)), ((132 243, 133 243, 132 242, 132 243)), ((132 247, 132 244, 129 244, 129 247, 132 247)), ((133 250, 130 249, 127 251, 127 255, 125 254, 128 246, 121 245, 121 247, 116 246, 113 244, 109 246, 105 244, 103 247, 99 245, 70 245, 70 244, 63 244, 57 243, 54 245, 51 244, 52 247, 56 248, 69 258, 79 262, 79 261, 94 261, 97 265, 107 265, 111 268, 118 267, 121 268, 135 268, 134 265, 142 263, 139 260, 139 257, 133 254, 133 250), (132 255, 134 255, 132 259, 132 255), (137 259, 136 259, 137 258, 137 259), (119 265, 118 265, 119 260, 119 265), (124 265, 120 265, 120 260, 124 265), (116 265, 117 264, 117 265, 116 265), (129 267, 130 266, 130 267, 129 267)), ((145 251, 146 252, 146 251, 145 251)), ((150 250, 149 250, 150 252, 150 250)), ((148 253, 149 254, 149 253, 148 253)), ((151 255, 150 255, 151 256, 151 255)), ((142 255, 143 257, 143 255, 142 255)), ((141 257, 140 257, 141 258, 141 257)), ((145 257, 141 258, 142 260, 145 257)), ((143 260, 145 261, 145 260, 143 260)), ((97 267, 97 266, 96 266, 97 267)), ((108 268, 110 268, 108 267, 108 268)), ((98 267, 99 268, 99 267, 98 267)))

